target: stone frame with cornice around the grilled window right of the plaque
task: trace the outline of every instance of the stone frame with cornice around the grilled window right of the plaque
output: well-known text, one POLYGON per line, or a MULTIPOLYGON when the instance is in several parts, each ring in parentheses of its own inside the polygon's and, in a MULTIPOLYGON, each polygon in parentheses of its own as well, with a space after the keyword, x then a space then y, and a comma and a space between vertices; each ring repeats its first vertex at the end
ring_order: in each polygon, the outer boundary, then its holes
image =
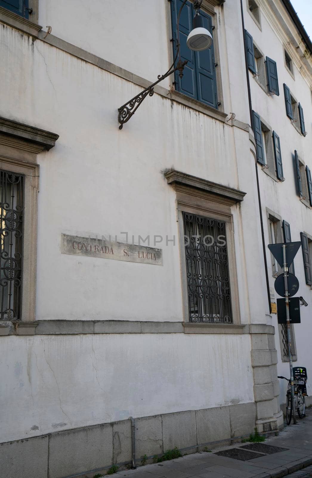
POLYGON ((243 329, 240 321, 238 275, 234 243, 234 223, 231 207, 243 200, 246 193, 224 185, 170 170, 165 173, 168 184, 176 192, 179 249, 181 259, 181 290, 183 301, 183 326, 185 333, 235 333, 243 329), (189 322, 187 301, 186 258, 184 245, 183 212, 219 219, 226 223, 227 250, 232 306, 232 324, 189 322), (235 332, 233 332, 235 331, 235 332))

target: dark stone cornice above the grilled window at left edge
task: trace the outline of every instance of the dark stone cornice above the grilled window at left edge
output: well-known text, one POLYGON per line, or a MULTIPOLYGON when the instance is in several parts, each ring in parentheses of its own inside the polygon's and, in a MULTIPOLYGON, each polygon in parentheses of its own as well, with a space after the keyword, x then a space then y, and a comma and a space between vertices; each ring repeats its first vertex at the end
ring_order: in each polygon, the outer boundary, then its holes
POLYGON ((53 148, 58 138, 58 134, 50 131, 0 117, 0 144, 38 153, 53 148))

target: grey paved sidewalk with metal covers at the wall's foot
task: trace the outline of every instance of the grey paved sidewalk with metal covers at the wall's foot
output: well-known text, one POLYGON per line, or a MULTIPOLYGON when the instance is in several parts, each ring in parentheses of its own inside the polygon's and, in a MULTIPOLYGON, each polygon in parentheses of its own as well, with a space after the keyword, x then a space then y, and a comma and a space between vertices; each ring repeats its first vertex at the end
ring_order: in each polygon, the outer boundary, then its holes
MULTIPOLYGON (((258 448, 258 447, 256 447, 258 448)), ((253 451, 253 453, 255 453, 253 451)), ((248 454, 247 454, 248 455, 248 454)), ((297 425, 291 424, 285 427, 278 436, 267 439, 260 444, 237 443, 213 449, 212 452, 201 452, 183 456, 171 461, 156 463, 138 467, 136 470, 119 471, 112 478, 281 478, 303 467, 312 465, 312 409, 307 410, 307 416, 300 420, 297 425), (262 447, 262 445, 265 445, 262 447), (270 452, 265 455, 243 456, 241 459, 220 456, 217 453, 226 450, 246 450, 245 445, 250 445, 249 453, 254 450, 254 445, 260 445, 262 452, 270 452), (266 445, 286 448, 279 451, 266 448, 266 445), (251 449, 250 449, 251 448, 251 449), (274 453, 277 451, 277 453, 274 453), (246 459, 251 458, 251 459, 246 459)), ((302 470, 303 471, 303 470, 302 470)), ((311 473, 311 467, 307 473, 311 473)), ((304 475, 302 472, 299 475, 304 475)))

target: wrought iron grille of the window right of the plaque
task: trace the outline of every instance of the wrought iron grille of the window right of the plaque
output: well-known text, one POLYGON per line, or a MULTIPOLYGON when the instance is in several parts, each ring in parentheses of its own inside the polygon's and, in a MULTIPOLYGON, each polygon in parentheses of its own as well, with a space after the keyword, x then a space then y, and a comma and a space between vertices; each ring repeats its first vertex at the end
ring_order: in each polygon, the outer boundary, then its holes
POLYGON ((190 322, 233 323, 225 223, 183 212, 190 322), (205 238, 210 237, 208 243, 205 238), (221 238, 221 240, 219 240, 221 238))

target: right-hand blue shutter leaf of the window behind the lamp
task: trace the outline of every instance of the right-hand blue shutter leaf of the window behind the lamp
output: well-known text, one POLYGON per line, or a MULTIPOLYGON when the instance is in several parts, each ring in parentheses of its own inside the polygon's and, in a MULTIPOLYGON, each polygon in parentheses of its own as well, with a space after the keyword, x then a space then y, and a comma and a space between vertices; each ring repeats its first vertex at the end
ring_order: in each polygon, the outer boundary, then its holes
MULTIPOLYGON (((195 12, 194 12, 195 14, 195 12)), ((212 21, 210 15, 204 11, 200 11, 200 15, 203 18, 204 27, 212 35, 212 21)), ((196 72, 197 72, 197 89, 198 100, 206 103, 213 108, 218 108, 217 99, 217 80, 216 80, 216 68, 215 68, 215 54, 213 49, 213 43, 202 52, 196 52, 196 72)))

